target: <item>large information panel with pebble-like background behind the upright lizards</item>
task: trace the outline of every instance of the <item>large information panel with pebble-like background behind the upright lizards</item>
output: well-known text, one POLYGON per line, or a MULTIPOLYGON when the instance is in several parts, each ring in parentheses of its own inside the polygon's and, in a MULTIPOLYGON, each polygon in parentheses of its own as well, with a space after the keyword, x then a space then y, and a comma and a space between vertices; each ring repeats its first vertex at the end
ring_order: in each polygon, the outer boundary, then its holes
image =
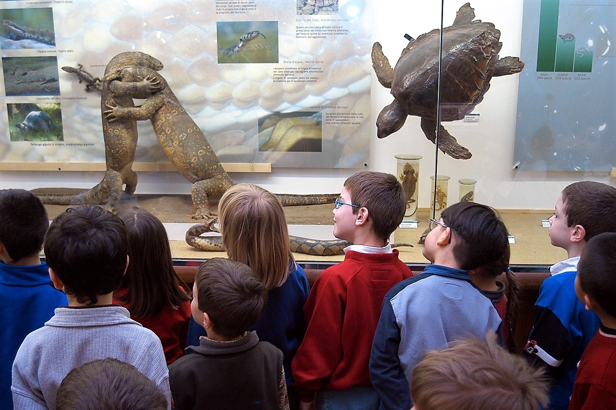
MULTIPOLYGON (((96 79, 126 51, 164 64, 160 74, 221 162, 368 162, 372 22, 365 0, 0 7, 1 162, 105 162, 96 79)), ((138 129, 136 162, 168 161, 150 121, 138 129)))

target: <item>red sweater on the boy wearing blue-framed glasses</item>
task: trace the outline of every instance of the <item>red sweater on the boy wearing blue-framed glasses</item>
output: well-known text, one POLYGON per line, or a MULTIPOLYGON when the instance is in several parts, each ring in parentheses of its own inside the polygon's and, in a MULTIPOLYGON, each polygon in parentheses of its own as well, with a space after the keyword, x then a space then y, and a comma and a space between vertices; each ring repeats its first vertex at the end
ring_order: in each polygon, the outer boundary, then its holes
POLYGON ((304 306, 306 335, 293 358, 302 401, 317 390, 370 386, 370 349, 387 291, 410 277, 393 253, 347 251, 344 261, 323 270, 304 306))

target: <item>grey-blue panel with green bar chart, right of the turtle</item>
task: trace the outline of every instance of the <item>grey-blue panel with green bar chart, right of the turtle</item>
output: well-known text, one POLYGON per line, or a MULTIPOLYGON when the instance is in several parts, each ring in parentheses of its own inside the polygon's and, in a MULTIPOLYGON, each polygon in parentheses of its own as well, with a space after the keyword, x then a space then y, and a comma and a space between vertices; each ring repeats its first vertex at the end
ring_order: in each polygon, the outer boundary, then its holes
POLYGON ((527 0, 516 143, 519 171, 616 167, 616 0, 527 0))

